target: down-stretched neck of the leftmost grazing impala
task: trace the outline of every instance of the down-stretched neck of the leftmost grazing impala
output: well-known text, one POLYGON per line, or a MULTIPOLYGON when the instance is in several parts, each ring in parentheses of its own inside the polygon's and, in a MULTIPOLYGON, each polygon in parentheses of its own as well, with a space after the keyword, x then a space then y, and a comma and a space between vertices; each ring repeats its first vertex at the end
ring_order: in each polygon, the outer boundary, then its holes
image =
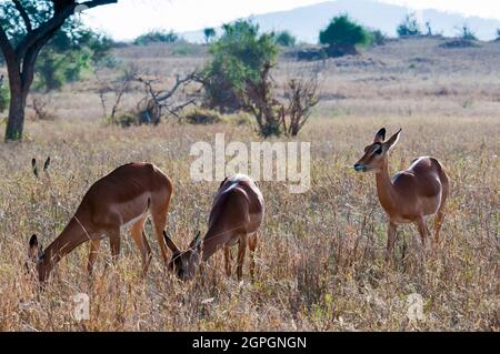
POLYGON ((48 279, 56 264, 80 244, 89 241, 89 235, 73 216, 61 234, 46 249, 39 270, 41 281, 48 279))

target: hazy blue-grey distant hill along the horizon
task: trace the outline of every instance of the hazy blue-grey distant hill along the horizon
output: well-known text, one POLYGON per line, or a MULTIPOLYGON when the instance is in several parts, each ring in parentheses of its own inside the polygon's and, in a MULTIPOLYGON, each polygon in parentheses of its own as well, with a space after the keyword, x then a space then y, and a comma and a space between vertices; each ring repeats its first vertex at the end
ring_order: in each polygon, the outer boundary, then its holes
MULTIPOLYGON (((252 19, 260 24, 263 31, 289 30, 300 41, 317 43, 319 31, 336 14, 349 13, 360 23, 380 29, 386 34, 393 37, 396 36, 396 28, 408 12, 409 10, 404 7, 374 0, 337 0, 290 11, 259 14, 252 17, 252 19)), ((432 9, 419 11, 418 16, 422 24, 430 21, 436 33, 441 32, 447 37, 457 36, 458 28, 467 23, 479 39, 492 40, 496 38, 497 29, 500 28, 500 20, 466 17, 460 13, 432 9)), ((188 41, 199 42, 203 40, 201 30, 181 33, 181 36, 188 41)))

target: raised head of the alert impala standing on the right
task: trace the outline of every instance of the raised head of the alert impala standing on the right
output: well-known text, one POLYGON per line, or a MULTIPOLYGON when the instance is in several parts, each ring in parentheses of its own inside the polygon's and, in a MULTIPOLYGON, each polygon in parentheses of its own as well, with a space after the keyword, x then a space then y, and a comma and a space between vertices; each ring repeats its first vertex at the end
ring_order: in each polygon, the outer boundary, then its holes
POLYGON ((386 141, 386 128, 377 133, 373 142, 364 148, 364 155, 354 164, 358 172, 379 171, 387 161, 389 151, 396 146, 401 129, 386 141))

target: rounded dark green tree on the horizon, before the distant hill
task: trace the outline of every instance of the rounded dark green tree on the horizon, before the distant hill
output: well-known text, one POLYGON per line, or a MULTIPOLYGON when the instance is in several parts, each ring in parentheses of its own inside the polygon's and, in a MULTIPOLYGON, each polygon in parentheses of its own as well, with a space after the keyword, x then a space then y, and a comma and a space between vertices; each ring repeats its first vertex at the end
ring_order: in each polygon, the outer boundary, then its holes
POLYGON ((330 49, 356 52, 357 45, 369 44, 370 32, 358 24, 347 14, 334 17, 328 27, 320 32, 320 43, 329 45, 330 49))

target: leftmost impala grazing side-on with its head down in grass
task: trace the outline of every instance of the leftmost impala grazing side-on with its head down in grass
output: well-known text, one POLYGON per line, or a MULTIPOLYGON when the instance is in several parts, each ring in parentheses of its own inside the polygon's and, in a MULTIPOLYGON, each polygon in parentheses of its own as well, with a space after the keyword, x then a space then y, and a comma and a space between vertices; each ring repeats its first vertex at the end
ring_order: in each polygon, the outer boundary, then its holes
POLYGON ((171 195, 172 182, 157 166, 130 163, 118 168, 89 189, 74 216, 47 250, 39 246, 36 235, 31 236, 28 255, 36 264, 38 279, 44 282, 64 255, 87 241, 90 241, 88 272, 91 274, 101 240, 109 237, 111 254, 113 259, 118 257, 120 231, 129 225, 141 251, 142 272, 146 275, 151 259, 151 249, 143 232, 148 214, 151 214, 161 255, 167 264, 162 232, 171 195))

